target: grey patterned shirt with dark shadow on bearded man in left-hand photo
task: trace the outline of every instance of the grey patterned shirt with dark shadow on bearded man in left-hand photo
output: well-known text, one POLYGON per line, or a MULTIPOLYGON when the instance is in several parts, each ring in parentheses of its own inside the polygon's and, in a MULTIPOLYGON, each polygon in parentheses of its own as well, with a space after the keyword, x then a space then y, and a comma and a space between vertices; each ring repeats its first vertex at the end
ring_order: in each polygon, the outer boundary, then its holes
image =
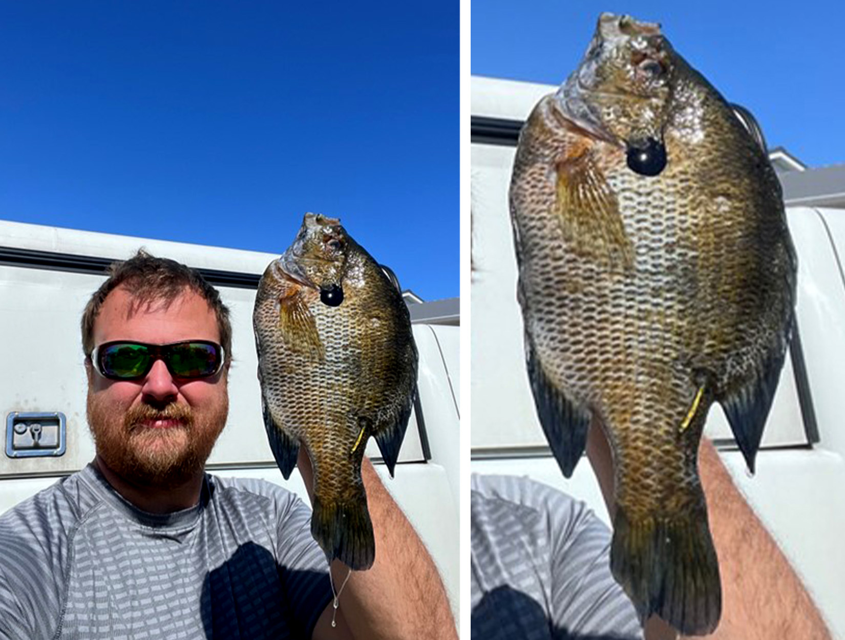
POLYGON ((197 507, 144 513, 89 465, 0 517, 0 638, 311 637, 331 590, 309 522, 211 475, 197 507))

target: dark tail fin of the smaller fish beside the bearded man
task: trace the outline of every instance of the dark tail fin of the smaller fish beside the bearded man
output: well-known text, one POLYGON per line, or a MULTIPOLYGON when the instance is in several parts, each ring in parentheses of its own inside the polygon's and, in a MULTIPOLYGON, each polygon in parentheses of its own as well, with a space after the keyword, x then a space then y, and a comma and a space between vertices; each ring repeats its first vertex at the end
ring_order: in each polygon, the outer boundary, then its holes
POLYGON ((330 562, 337 558, 355 571, 372 567, 375 537, 363 487, 359 495, 342 501, 323 501, 315 493, 311 534, 330 562))

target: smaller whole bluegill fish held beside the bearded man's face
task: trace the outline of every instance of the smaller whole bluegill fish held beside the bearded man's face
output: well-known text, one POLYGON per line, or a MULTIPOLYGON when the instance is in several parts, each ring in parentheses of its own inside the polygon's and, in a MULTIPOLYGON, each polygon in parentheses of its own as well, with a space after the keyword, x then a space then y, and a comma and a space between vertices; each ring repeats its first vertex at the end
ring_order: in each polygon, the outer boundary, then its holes
POLYGON ((306 214, 264 271, 253 315, 264 426, 285 478, 302 444, 314 475, 311 532, 331 561, 368 569, 361 479, 369 437, 393 475, 417 381, 401 291, 338 220, 306 214))

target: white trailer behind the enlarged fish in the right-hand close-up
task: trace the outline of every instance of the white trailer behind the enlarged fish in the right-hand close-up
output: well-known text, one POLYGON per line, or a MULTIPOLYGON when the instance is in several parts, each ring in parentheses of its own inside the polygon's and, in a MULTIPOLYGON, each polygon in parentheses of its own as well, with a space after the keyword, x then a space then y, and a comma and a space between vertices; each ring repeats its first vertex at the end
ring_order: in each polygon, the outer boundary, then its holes
MULTIPOLYGON (((515 133, 557 87, 472 78, 472 471, 528 475, 587 502, 609 524, 589 464, 564 479, 529 387, 507 191, 515 133)), ((798 330, 750 477, 717 405, 706 436, 845 640, 845 211, 789 207, 799 255, 798 330)))

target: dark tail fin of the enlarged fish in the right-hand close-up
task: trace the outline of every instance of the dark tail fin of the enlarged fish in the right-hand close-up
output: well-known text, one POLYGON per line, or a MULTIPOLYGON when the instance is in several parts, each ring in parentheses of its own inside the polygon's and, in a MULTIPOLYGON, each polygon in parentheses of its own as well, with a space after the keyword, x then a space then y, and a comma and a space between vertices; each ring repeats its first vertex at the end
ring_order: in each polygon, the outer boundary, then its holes
POLYGON ((691 636, 716 629, 722 615, 722 586, 703 507, 635 521, 618 506, 610 567, 642 621, 656 613, 691 636))

